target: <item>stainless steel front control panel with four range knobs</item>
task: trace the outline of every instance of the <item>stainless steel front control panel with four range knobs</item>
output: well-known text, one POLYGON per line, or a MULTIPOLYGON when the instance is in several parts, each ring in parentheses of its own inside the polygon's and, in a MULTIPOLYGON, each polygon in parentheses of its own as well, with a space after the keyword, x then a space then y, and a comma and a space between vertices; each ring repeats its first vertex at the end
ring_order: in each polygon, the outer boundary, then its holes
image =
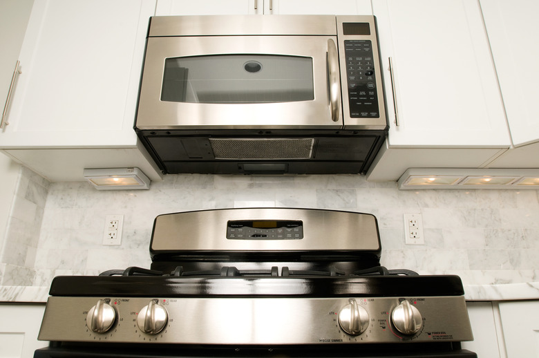
POLYGON ((39 339, 280 345, 469 341, 473 336, 463 296, 53 296, 39 339))

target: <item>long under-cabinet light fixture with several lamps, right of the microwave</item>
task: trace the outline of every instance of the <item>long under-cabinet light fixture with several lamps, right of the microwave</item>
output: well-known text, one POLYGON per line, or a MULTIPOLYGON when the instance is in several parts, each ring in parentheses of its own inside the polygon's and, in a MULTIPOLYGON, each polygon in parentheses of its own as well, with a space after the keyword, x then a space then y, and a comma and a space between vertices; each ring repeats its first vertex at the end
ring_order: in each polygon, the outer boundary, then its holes
POLYGON ((410 168, 399 189, 536 189, 539 169, 410 168))

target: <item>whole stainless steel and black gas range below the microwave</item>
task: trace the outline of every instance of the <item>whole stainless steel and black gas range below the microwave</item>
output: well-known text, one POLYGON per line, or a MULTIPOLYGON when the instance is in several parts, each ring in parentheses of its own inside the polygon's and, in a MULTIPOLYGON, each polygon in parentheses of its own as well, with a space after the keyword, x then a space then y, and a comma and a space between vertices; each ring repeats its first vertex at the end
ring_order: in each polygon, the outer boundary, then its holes
POLYGON ((477 357, 460 278, 380 253, 370 214, 161 215, 149 270, 54 279, 35 357, 477 357))

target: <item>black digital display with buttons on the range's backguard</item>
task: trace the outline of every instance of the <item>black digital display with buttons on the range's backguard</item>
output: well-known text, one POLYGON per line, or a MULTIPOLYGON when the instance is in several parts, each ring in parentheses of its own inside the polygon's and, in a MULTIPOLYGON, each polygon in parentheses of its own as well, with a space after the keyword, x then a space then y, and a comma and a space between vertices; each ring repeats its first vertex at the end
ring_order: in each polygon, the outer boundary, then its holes
POLYGON ((230 220, 229 240, 299 240, 303 238, 301 220, 230 220))

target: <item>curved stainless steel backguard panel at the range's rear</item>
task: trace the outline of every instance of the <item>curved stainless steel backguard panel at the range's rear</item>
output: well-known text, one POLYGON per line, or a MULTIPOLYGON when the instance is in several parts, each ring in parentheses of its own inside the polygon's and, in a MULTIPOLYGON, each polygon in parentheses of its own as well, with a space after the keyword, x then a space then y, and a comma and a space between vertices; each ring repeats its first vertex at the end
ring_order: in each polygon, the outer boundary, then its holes
MULTIPOLYGON (((287 231, 293 235, 294 227, 283 228, 285 234, 287 231)), ((371 214, 271 207, 163 214, 155 218, 150 243, 152 255, 167 252, 252 252, 252 256, 265 252, 273 256, 281 252, 364 252, 379 256, 380 250, 378 223, 371 214), (270 237, 272 233, 278 235, 278 226, 291 222, 298 223, 296 228, 301 226, 301 238, 270 237), (242 240, 227 237, 231 226, 237 229, 240 223, 245 225, 245 234, 251 233, 249 237, 242 240), (275 228, 268 227, 273 224, 275 228)))

